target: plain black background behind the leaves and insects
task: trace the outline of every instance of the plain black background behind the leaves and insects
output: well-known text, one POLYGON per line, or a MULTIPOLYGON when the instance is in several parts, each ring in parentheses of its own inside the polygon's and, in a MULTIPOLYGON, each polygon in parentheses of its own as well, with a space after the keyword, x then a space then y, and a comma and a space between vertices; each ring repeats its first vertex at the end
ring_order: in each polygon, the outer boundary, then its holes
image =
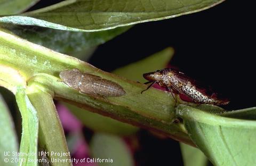
MULTIPOLYGON (((230 98, 226 109, 255 106, 255 19, 251 6, 229 0, 202 12, 137 24, 99 46, 89 62, 112 71, 172 46, 175 55, 170 64, 230 98)), ((182 165, 177 142, 156 139, 145 131, 139 138, 138 165, 182 165)))

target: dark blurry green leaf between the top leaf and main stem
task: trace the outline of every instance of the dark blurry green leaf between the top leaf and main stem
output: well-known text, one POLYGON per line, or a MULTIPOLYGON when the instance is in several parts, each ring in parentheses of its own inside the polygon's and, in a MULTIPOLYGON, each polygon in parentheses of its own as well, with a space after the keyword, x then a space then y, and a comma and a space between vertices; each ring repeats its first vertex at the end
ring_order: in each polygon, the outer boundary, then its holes
POLYGON ((131 27, 121 27, 99 32, 70 32, 42 27, 9 26, 14 34, 32 43, 50 48, 56 52, 78 55, 79 59, 89 59, 95 47, 122 34, 131 27))

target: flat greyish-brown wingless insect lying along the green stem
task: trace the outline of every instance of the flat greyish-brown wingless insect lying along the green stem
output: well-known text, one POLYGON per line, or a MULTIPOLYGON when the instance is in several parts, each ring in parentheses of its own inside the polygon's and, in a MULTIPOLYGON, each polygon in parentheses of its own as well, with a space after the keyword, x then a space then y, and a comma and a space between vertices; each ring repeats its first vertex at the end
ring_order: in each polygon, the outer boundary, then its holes
POLYGON ((116 82, 103 79, 89 73, 82 73, 78 69, 60 72, 60 78, 69 87, 80 93, 104 97, 118 97, 125 95, 123 87, 116 82))

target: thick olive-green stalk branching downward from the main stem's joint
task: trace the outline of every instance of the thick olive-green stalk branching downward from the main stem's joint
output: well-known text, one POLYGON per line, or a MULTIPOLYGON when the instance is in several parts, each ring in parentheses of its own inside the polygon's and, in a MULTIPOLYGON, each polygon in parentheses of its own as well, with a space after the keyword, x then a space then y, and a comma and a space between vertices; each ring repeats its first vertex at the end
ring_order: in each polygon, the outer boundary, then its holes
POLYGON ((51 94, 47 92, 47 89, 44 89, 44 87, 41 87, 40 85, 34 84, 34 82, 30 82, 30 84, 28 84, 26 93, 38 113, 39 146, 41 148, 46 148, 45 151, 49 152, 50 161, 58 161, 52 162, 52 166, 69 166, 70 162, 60 161, 69 161, 70 155, 60 156, 51 153, 69 153, 64 131, 57 110, 55 109, 51 94))

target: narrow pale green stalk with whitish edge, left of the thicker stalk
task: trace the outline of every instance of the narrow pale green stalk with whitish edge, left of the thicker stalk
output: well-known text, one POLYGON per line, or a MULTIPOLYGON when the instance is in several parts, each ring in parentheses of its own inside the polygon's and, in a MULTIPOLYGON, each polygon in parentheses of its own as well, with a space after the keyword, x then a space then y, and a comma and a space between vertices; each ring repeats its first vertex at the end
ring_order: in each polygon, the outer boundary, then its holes
POLYGON ((19 156, 19 165, 37 165, 37 139, 38 139, 38 115, 35 107, 30 103, 25 89, 19 88, 15 95, 22 117, 22 136, 20 142, 20 153, 31 154, 19 156))

